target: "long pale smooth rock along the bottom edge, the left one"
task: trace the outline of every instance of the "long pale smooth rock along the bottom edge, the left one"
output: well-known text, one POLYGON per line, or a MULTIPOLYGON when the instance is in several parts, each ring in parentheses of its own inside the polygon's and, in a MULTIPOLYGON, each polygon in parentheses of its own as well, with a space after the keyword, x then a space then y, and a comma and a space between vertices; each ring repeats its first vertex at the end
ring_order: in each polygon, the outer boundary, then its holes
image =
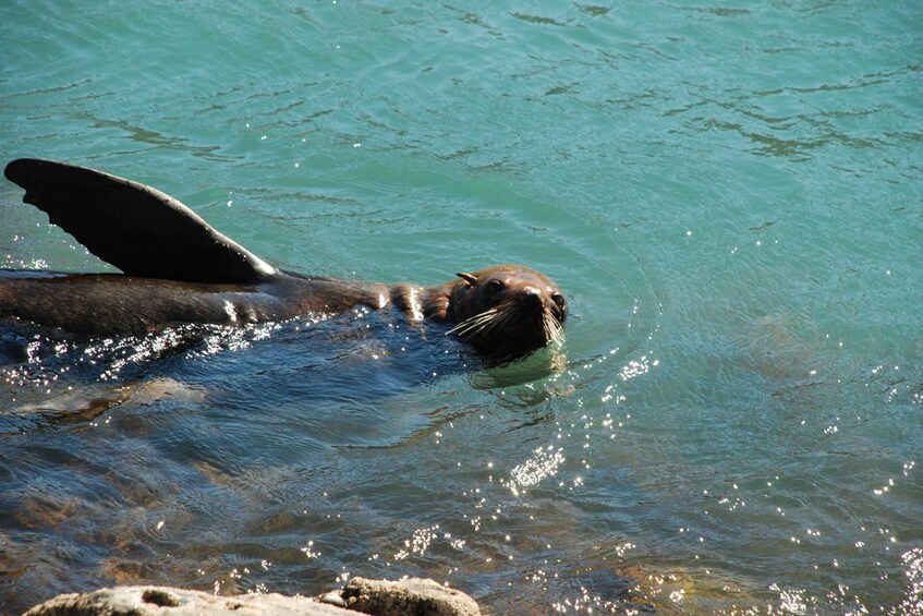
POLYGON ((179 616, 185 614, 296 614, 355 616, 341 607, 281 594, 216 596, 166 587, 117 587, 83 594, 62 594, 26 612, 27 616, 179 616))

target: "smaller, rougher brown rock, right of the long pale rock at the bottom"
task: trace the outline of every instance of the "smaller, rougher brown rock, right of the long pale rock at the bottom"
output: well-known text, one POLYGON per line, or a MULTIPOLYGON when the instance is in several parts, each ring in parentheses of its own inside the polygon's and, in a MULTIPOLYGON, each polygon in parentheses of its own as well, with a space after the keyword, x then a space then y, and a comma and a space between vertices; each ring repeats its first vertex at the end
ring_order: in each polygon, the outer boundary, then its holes
POLYGON ((375 616, 479 616, 481 608, 461 591, 434 580, 400 582, 353 578, 341 593, 347 607, 375 616))

